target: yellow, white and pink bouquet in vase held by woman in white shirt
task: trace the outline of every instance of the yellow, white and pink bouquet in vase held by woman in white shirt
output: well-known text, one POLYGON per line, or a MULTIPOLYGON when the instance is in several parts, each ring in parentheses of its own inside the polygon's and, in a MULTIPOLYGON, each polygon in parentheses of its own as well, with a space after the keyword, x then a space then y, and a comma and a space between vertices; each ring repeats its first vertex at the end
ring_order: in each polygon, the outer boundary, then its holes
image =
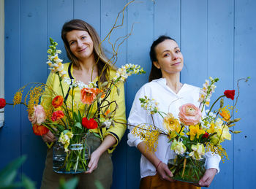
MULTIPOLYGON (((249 77, 240 80, 247 81, 248 79, 249 77)), ((140 99, 143 109, 146 109, 151 115, 158 113, 162 116, 163 128, 165 129, 157 128, 154 124, 150 126, 143 124, 134 126, 132 134, 139 136, 146 143, 146 150, 149 151, 157 149, 157 139, 160 134, 168 137, 169 142, 172 142, 170 149, 176 153, 176 158, 167 162, 174 180, 198 183, 206 171, 206 158, 204 157, 206 152, 211 151, 214 155, 219 155, 224 161, 224 157, 227 158, 227 153, 222 148, 221 143, 225 139, 231 139, 230 132, 233 134, 241 132, 230 130, 240 120, 239 118, 232 119, 238 101, 239 88, 233 107, 224 106, 224 98, 234 100, 235 90, 225 90, 224 94, 214 101, 210 109, 205 110, 205 107, 210 105, 210 98, 218 80, 218 78, 213 79, 211 77, 210 81, 206 80, 200 90, 198 100, 200 106, 184 104, 179 107, 178 117, 174 117, 170 112, 167 114, 160 112, 154 99, 148 99, 147 96, 140 99), (218 101, 219 107, 213 111, 214 105, 218 101)))

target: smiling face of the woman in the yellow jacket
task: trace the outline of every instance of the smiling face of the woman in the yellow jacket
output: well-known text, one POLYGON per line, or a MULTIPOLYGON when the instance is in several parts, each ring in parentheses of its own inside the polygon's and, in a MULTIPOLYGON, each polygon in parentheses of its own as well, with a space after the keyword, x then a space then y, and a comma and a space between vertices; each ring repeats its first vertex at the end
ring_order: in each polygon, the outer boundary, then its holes
POLYGON ((66 35, 69 48, 78 60, 94 57, 94 42, 87 31, 72 30, 66 35))

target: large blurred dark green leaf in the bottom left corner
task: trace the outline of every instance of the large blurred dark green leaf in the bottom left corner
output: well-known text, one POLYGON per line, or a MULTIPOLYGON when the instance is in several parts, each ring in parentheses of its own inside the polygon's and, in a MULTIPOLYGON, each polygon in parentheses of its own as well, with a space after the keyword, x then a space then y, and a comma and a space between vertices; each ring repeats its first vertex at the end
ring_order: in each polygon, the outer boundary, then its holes
POLYGON ((17 169, 22 165, 26 160, 26 155, 21 156, 20 158, 15 159, 0 172, 0 188, 10 185, 17 175, 17 169))

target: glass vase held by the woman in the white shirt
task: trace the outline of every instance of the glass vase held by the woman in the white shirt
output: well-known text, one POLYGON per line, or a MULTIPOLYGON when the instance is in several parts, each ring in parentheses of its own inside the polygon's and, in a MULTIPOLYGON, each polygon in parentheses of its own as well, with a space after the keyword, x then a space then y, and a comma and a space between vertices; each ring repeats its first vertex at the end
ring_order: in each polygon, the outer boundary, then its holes
POLYGON ((167 163, 173 173, 173 180, 198 183, 205 173, 206 158, 195 160, 189 155, 177 155, 167 163))

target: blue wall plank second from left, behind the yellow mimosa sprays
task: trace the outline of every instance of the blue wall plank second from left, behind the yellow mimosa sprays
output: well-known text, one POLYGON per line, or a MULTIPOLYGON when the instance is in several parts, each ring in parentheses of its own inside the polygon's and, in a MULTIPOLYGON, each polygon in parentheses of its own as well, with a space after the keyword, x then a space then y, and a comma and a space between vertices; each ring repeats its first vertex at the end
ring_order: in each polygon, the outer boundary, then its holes
MULTIPOLYGON (((22 1, 20 7, 22 86, 29 82, 45 82, 46 72, 41 71, 46 70, 46 11, 47 1, 22 1)), ((33 134, 25 107, 21 111, 21 153, 28 156, 22 166, 23 173, 37 182, 39 188, 45 165, 45 144, 41 137, 33 134)))

